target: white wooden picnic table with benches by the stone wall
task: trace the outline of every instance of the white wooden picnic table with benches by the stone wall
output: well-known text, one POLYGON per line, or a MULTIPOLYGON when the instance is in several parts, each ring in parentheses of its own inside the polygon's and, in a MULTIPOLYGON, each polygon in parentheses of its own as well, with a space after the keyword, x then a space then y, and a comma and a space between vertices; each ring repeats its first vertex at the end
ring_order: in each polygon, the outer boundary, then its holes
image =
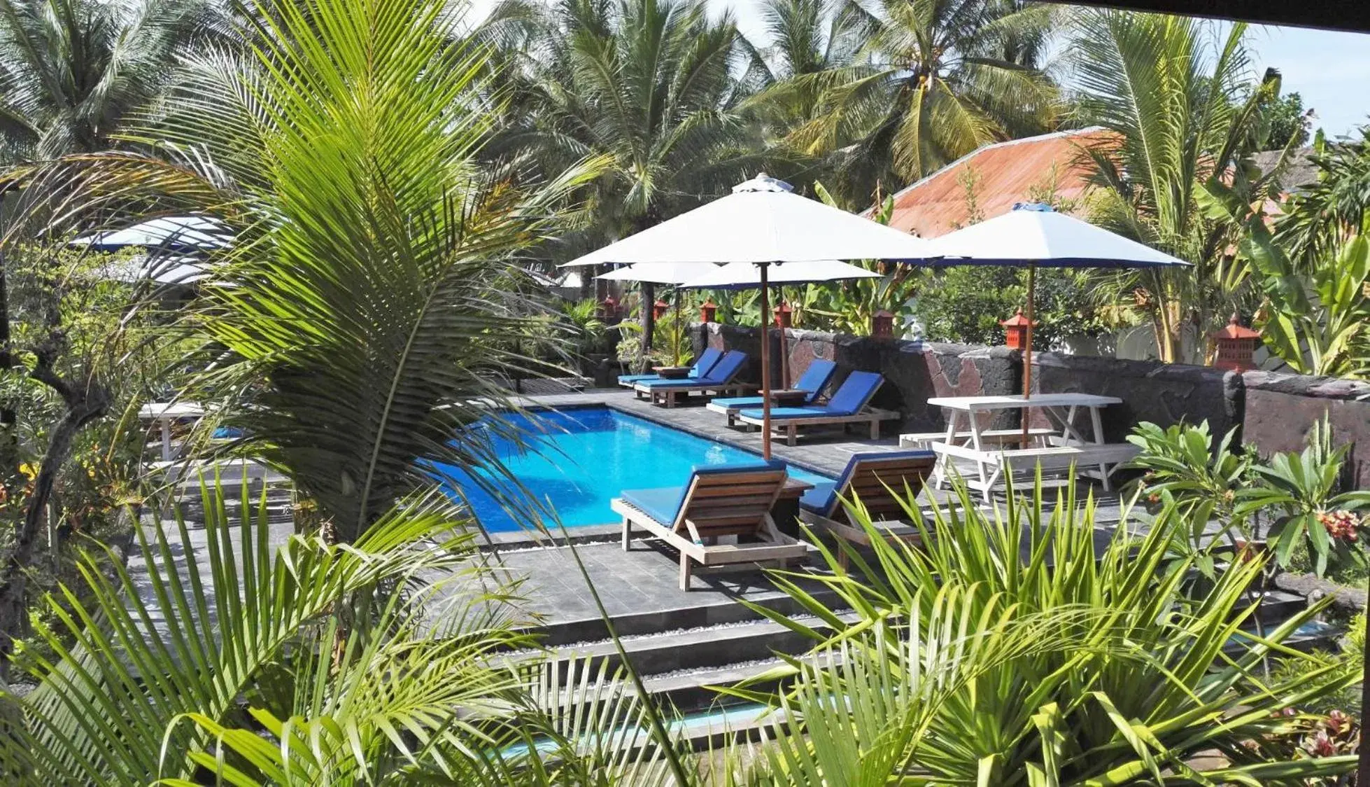
MULTIPOLYGON (((955 459, 969 459, 975 463, 974 477, 966 477, 966 485, 984 494, 989 500, 991 491, 1015 468, 1037 466, 1044 470, 1059 470, 1075 466, 1099 469, 1104 489, 1110 489, 1108 477, 1114 469, 1136 455, 1130 443, 1104 443, 1103 409, 1121 404, 1117 396, 1095 394, 1038 394, 1033 398, 1008 396, 936 396, 927 400, 930 406, 949 411, 947 431, 943 439, 930 444, 937 454, 937 468, 933 483, 941 488, 952 470, 955 459), (986 431, 977 418, 981 413, 1021 410, 1028 418, 1030 410, 1040 410, 1052 422, 1051 431, 1033 429, 1036 446, 1008 447, 1015 443, 1004 429, 986 431), (1089 413, 1089 433, 1075 426, 1080 411, 1089 413), (966 429, 960 429, 962 418, 966 429), (1007 437, 1007 439, 1006 439, 1007 437)), ((922 435, 908 437, 922 439, 922 435)))

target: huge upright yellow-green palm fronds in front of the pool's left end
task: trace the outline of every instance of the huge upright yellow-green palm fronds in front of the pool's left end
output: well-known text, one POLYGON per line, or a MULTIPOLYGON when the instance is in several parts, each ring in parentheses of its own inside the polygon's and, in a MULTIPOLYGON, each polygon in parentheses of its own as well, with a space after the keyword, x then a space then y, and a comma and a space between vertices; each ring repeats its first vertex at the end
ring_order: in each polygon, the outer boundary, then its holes
POLYGON ((118 196, 193 202, 237 233, 195 315, 227 363, 192 395, 351 540, 432 484, 429 462, 499 468, 453 436, 529 362, 510 339, 547 306, 514 254, 592 170, 514 188, 477 159, 488 55, 438 0, 256 12, 262 43, 188 63, 181 111, 145 130, 171 163, 90 166, 118 196))

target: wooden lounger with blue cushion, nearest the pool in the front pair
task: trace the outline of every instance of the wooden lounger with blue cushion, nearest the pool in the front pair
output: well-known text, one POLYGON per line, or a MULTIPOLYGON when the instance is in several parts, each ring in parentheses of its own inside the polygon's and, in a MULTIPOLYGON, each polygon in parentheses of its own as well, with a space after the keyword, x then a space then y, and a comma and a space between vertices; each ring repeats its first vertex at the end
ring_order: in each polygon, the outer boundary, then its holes
POLYGON ((780 532, 770 510, 785 487, 784 462, 696 468, 684 488, 632 489, 610 503, 623 517, 623 550, 641 528, 680 550, 681 590, 690 564, 788 562, 808 546, 780 532), (736 543, 719 539, 736 537, 736 543), (744 540, 749 539, 749 540, 744 540))

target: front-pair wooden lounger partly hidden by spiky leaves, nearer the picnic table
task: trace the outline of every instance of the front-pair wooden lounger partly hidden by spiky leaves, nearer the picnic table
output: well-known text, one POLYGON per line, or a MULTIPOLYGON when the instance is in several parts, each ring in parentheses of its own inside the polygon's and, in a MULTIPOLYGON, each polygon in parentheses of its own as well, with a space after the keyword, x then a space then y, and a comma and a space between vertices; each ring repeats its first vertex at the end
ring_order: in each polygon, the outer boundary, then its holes
MULTIPOLYGON (((851 521, 851 511, 843 505, 845 499, 864 509, 871 525, 881 533, 917 540, 918 528, 901 521, 906 516, 901 500, 906 494, 922 491, 936 465, 937 455, 932 451, 854 454, 830 488, 815 487, 800 498, 799 516, 836 537, 869 547, 870 533, 851 521)), ((847 553, 840 551, 837 559, 845 568, 847 553)))

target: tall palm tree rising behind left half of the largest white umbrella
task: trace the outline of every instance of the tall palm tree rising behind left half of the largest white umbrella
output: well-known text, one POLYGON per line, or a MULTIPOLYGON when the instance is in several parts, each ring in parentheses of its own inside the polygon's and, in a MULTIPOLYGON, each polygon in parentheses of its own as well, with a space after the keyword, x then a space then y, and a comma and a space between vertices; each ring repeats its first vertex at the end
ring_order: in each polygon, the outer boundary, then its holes
MULTIPOLYGON (((507 56, 507 130, 492 147, 544 171, 597 156, 593 217, 580 243, 599 245, 726 193, 767 156, 737 111, 733 67, 743 38, 701 0, 510 0, 481 34, 507 56)), ((574 240, 571 241, 575 243, 574 240)), ((643 285, 643 351, 653 287, 643 285)))

